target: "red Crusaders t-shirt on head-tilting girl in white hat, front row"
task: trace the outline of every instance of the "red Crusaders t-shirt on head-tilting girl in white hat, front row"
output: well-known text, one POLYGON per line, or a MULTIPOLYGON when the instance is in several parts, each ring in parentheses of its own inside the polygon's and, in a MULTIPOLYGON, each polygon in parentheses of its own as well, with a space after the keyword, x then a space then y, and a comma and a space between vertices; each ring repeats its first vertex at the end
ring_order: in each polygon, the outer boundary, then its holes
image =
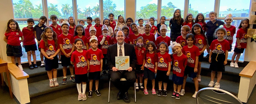
POLYGON ((182 54, 181 56, 177 56, 177 54, 173 54, 173 74, 178 77, 184 76, 185 65, 187 65, 187 57, 182 54))

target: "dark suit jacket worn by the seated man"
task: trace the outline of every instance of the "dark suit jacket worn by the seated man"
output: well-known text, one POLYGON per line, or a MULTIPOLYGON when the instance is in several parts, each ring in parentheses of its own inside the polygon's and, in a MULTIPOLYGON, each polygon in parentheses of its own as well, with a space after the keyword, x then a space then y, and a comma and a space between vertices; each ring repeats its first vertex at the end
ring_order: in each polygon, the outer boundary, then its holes
MULTIPOLYGON (((117 56, 117 44, 111 45, 107 49, 107 65, 111 70, 115 67, 115 56, 117 56)), ((134 70, 137 58, 133 45, 124 43, 124 56, 130 56, 130 67, 134 70)))

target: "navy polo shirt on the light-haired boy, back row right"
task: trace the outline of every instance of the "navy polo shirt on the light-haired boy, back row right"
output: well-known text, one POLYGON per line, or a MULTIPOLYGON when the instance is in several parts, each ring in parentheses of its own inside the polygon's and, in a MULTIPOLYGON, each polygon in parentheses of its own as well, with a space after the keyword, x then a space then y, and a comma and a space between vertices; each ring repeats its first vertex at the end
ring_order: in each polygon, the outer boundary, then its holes
POLYGON ((224 24, 224 22, 223 21, 221 21, 221 20, 217 20, 216 19, 216 21, 214 22, 214 23, 212 23, 211 21, 208 21, 207 23, 206 23, 206 28, 207 28, 207 31, 206 31, 206 36, 208 37, 213 37, 213 33, 214 33, 214 31, 220 26, 220 25, 223 25, 224 24))

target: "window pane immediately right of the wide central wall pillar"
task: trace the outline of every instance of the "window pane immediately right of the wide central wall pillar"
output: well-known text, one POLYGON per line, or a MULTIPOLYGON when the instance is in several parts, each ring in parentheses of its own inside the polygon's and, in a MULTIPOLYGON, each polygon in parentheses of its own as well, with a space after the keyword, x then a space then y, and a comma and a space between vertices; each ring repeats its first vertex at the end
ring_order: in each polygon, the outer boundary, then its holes
POLYGON ((136 19, 157 18, 157 0, 136 0, 136 19))

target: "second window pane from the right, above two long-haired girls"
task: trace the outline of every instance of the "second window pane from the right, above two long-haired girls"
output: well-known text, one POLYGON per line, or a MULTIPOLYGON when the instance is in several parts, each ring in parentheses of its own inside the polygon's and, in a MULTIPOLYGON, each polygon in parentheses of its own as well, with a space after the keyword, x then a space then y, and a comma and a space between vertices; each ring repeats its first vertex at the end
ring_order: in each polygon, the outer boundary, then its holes
POLYGON ((215 0, 189 0, 189 13, 194 18, 198 13, 202 13, 204 17, 209 17, 209 12, 214 11, 215 0))

